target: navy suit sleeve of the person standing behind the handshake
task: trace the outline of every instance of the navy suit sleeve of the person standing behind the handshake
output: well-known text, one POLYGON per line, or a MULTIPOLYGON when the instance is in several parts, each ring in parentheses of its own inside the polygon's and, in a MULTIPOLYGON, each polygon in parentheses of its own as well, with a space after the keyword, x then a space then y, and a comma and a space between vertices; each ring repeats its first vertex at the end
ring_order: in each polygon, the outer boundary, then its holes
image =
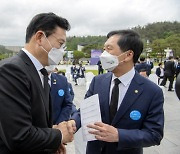
POLYGON ((65 80, 65 97, 62 103, 61 113, 56 121, 56 123, 60 123, 62 121, 68 121, 72 112, 72 98, 69 92, 69 85, 67 79, 65 80))

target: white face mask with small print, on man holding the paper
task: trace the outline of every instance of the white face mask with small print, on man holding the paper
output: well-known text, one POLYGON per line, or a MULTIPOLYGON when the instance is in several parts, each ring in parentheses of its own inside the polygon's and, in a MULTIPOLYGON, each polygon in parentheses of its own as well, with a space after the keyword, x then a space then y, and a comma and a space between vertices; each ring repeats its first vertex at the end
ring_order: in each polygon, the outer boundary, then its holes
POLYGON ((118 57, 122 56, 124 53, 119 56, 114 56, 105 50, 100 56, 102 67, 108 71, 113 71, 119 65, 119 63, 121 63, 119 62, 118 57))

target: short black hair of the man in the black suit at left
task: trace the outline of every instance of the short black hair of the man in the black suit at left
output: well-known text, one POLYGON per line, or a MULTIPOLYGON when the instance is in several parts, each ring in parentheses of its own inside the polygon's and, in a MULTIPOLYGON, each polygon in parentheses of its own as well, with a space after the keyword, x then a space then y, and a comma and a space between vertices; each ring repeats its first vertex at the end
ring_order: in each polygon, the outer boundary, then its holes
POLYGON ((65 18, 59 17, 52 12, 37 14, 30 21, 26 29, 26 43, 30 41, 31 37, 37 31, 44 31, 46 36, 48 37, 49 35, 54 33, 56 27, 61 27, 67 31, 70 30, 70 24, 65 18))

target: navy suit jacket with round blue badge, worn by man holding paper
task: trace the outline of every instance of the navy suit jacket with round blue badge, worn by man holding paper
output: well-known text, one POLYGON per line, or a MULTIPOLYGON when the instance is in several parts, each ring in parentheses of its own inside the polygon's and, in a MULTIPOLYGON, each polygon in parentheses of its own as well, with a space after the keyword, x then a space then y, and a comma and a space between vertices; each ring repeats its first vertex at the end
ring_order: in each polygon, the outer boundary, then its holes
MULTIPOLYGON (((141 154, 143 147, 159 145, 163 137, 164 112, 162 90, 149 79, 135 74, 127 93, 112 123, 109 117, 109 91, 112 73, 93 78, 86 97, 99 95, 102 122, 118 129, 119 142, 91 141, 87 144, 87 154, 141 154), (141 114, 139 120, 131 118, 132 111, 141 114)), ((73 115, 80 127, 79 113, 73 115)))

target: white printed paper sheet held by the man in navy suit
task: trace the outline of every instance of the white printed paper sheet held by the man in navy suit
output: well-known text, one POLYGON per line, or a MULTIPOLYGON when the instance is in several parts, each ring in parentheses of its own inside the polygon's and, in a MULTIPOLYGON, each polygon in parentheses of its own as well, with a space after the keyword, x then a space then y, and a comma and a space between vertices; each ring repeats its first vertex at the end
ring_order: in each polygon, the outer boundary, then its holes
POLYGON ((80 110, 83 140, 96 140, 95 136, 88 132, 91 128, 88 128, 87 125, 102 121, 98 94, 83 100, 80 105, 80 110))

